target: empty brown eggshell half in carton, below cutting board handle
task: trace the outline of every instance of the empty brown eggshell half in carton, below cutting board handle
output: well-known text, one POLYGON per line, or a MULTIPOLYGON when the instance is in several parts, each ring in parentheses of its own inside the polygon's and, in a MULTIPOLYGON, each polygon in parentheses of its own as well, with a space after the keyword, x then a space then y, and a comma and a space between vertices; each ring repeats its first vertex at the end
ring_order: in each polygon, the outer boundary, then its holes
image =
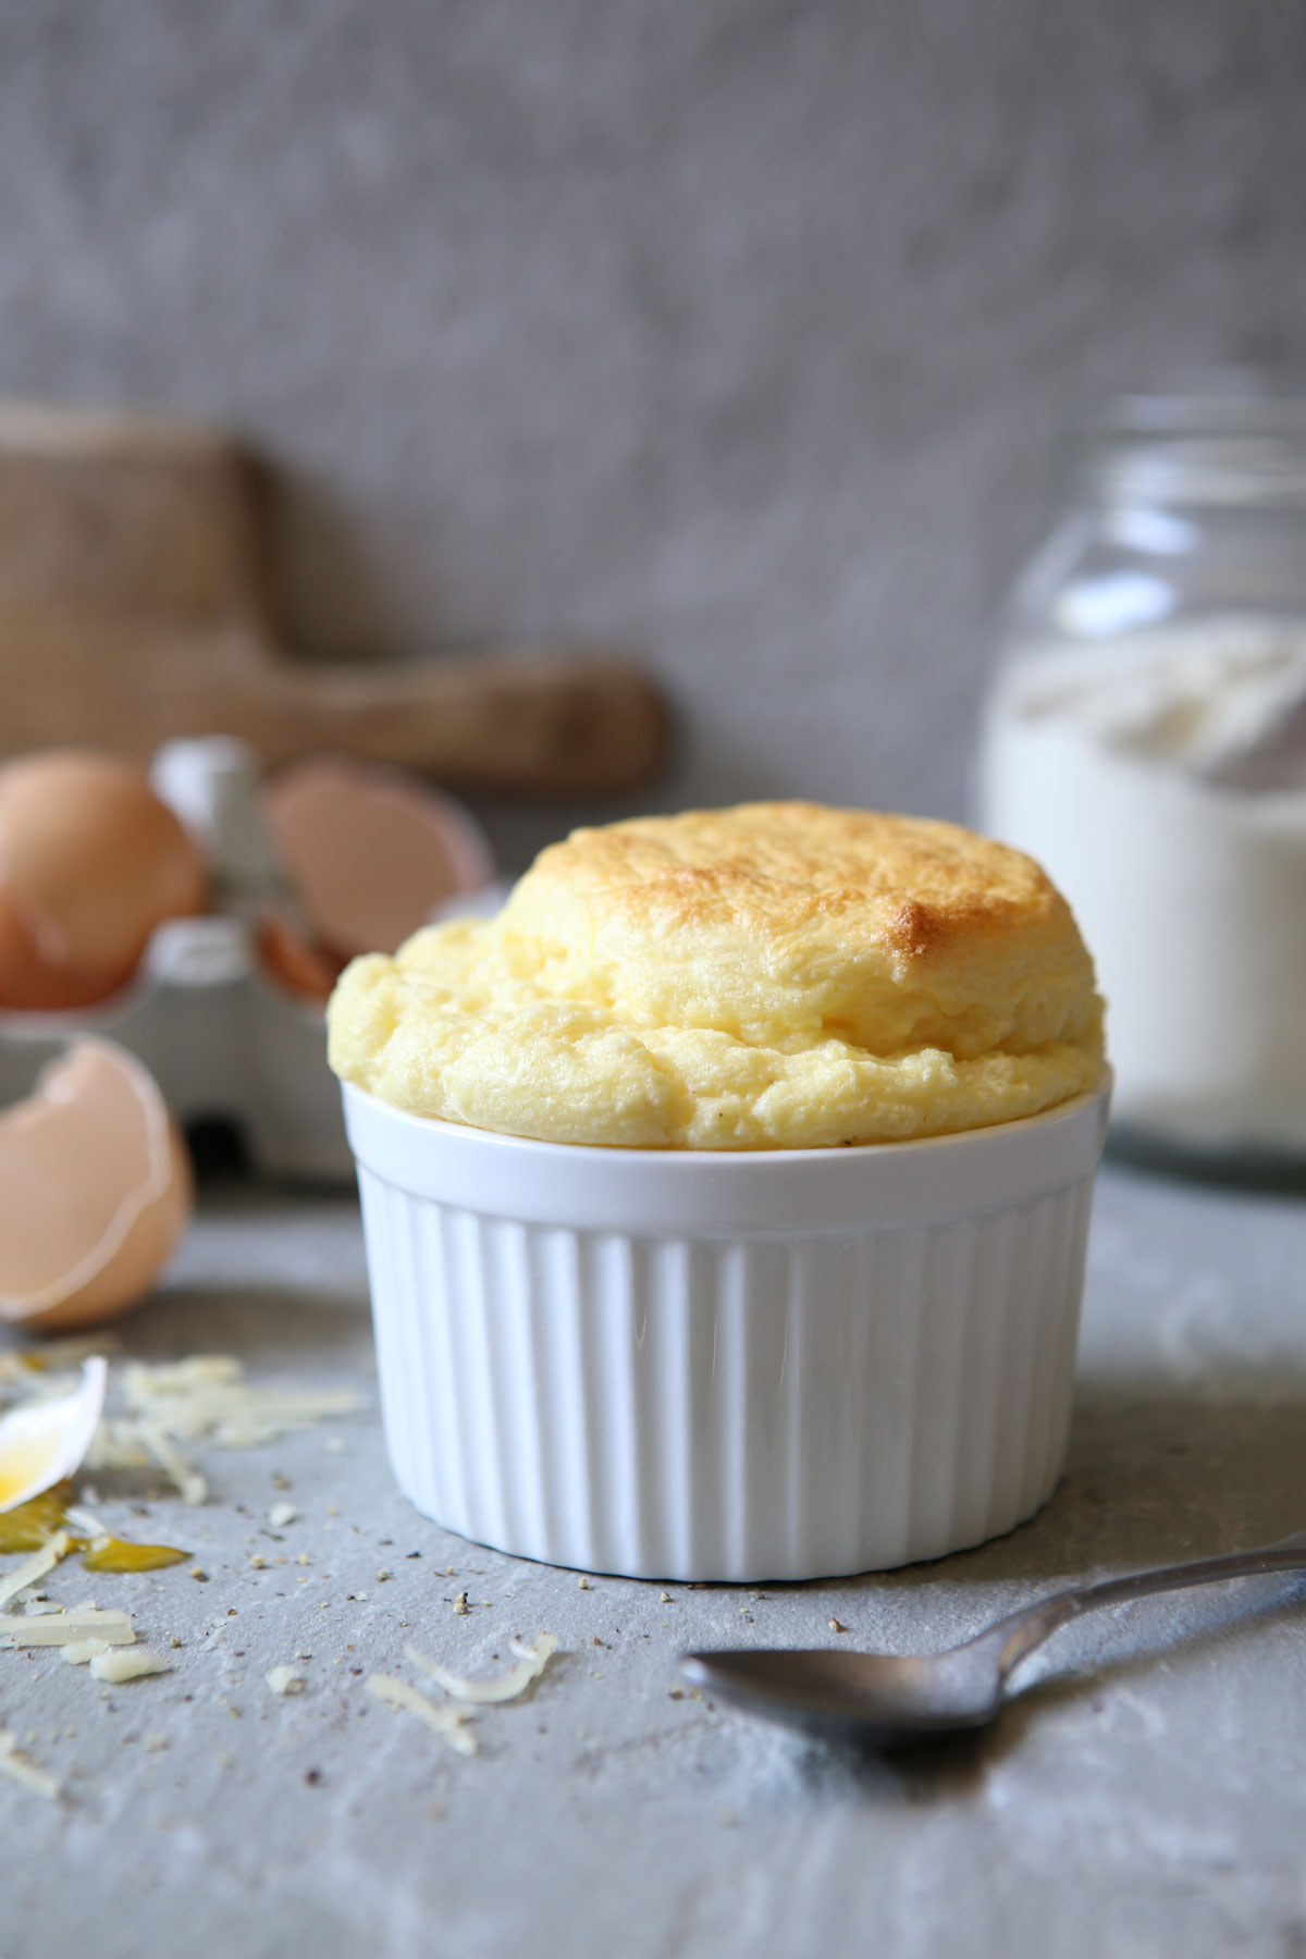
POLYGON ((309 927, 341 960, 394 952, 493 876, 470 813, 397 770, 317 756, 266 786, 264 811, 309 927))

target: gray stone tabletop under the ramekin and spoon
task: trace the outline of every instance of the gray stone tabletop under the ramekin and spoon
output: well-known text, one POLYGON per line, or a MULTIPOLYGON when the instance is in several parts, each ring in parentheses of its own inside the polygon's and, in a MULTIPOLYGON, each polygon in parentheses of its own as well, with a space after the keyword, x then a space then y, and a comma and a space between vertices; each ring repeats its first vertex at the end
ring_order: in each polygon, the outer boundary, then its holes
MULTIPOLYGON (((1067 1579, 1302 1526, 1300 1199, 1108 1170, 1061 1489, 997 1544, 836 1585, 582 1591, 419 1518, 386 1469, 364 1299, 350 1203, 233 1193, 125 1328, 133 1354, 237 1352, 364 1405, 202 1452, 202 1510, 149 1499, 143 1520, 141 1491, 100 1477, 106 1518, 192 1546, 210 1581, 96 1581, 147 1638, 180 1636, 164 1677, 102 1696, 55 1657, 0 1653, 0 1724, 69 1789, 51 1808, 0 1781, 4 1959, 1306 1947, 1304 1581, 1067 1628, 995 1732, 899 1763, 672 1696, 685 1646, 826 1644, 838 1616, 850 1642, 924 1649, 1067 1579), (282 1542, 276 1501, 302 1510, 282 1542), (374 1667, 415 1679, 407 1640, 497 1671, 540 1628, 564 1653, 531 1700, 482 1714, 474 1759, 362 1691, 374 1667), (305 1691, 278 1700, 264 1673, 298 1653, 305 1691)), ((49 1589, 88 1587, 63 1569, 49 1589)))

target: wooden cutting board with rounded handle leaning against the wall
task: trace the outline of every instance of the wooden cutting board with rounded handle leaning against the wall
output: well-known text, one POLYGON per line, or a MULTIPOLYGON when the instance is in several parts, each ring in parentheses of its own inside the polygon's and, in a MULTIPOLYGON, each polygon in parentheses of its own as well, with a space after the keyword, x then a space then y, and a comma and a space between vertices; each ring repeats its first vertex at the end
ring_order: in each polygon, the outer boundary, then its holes
POLYGON ((0 404, 0 754, 145 760, 239 735, 450 788, 585 795, 644 782, 668 715, 619 658, 486 652, 311 666, 278 643, 251 458, 221 431, 0 404))

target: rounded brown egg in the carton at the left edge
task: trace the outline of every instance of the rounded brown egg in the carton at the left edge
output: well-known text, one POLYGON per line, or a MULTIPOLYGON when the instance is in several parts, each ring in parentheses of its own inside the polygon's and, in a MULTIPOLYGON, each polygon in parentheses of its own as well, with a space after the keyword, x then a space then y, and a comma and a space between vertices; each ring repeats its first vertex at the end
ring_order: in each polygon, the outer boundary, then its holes
POLYGON ((129 762, 49 750, 0 768, 0 1007, 104 999, 206 887, 194 842, 129 762))

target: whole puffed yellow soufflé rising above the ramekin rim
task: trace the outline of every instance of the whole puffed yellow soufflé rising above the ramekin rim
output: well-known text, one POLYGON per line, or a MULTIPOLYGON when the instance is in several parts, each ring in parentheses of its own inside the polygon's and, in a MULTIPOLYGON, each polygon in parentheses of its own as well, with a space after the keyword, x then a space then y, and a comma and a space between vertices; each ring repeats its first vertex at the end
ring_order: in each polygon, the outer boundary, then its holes
POLYGON ((497 919, 354 960, 329 1028, 397 1109, 625 1148, 940 1136, 1102 1072, 1093 962, 1030 858, 815 803, 576 831, 497 919))

